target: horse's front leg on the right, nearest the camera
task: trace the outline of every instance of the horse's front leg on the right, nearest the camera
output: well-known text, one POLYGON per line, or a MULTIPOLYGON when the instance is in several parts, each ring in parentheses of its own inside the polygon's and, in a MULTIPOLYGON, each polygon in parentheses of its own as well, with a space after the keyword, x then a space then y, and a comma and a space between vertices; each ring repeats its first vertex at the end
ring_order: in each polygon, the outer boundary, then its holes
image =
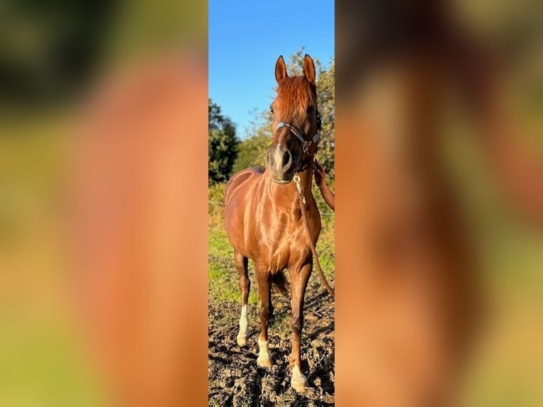
POLYGON ((291 332, 292 350, 290 366, 292 369, 291 387, 303 392, 308 388, 308 379, 301 370, 301 334, 303 329, 303 297, 306 294, 306 287, 311 274, 312 262, 304 264, 301 269, 293 269, 291 276, 291 332))

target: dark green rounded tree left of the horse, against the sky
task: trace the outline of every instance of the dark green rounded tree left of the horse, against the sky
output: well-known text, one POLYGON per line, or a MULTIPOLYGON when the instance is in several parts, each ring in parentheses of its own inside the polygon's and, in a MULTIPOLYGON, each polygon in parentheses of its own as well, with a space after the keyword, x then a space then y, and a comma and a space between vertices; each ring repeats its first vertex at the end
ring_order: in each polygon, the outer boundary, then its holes
POLYGON ((220 106, 208 99, 208 184, 225 182, 232 175, 239 140, 230 118, 223 116, 220 106))

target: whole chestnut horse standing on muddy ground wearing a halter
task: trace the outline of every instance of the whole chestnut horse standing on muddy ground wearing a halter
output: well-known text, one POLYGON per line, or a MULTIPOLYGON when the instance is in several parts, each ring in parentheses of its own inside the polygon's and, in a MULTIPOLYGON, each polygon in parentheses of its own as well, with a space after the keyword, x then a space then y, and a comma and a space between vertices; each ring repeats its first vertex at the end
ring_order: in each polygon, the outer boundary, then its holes
POLYGON ((250 279, 248 259, 254 260, 258 284, 261 332, 258 339, 259 367, 270 367, 268 323, 273 313, 271 285, 285 291, 284 269, 291 280, 292 350, 291 386, 304 391, 308 380, 301 371, 303 297, 313 269, 311 243, 304 225, 302 204, 293 179, 306 198, 307 221, 313 245, 320 234, 320 213, 311 184, 313 156, 318 149, 320 118, 317 108, 315 65, 309 55, 303 61, 303 76, 289 77, 283 57, 275 66, 277 95, 271 112, 275 129, 267 150, 265 169, 249 168, 234 174, 225 190, 225 227, 240 273, 242 311, 237 343, 247 345, 247 298, 250 279), (299 177, 299 178, 298 178, 299 177))

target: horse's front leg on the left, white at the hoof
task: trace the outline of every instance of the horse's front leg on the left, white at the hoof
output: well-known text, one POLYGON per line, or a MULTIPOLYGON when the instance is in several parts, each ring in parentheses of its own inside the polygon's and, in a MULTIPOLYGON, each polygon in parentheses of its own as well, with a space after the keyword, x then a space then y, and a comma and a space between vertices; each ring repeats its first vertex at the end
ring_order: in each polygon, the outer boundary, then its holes
POLYGON ((258 338, 258 359, 259 367, 271 367, 273 364, 268 350, 268 325, 271 317, 271 273, 263 267, 255 264, 255 277, 258 284, 259 294, 259 316, 261 323, 260 336, 258 338))

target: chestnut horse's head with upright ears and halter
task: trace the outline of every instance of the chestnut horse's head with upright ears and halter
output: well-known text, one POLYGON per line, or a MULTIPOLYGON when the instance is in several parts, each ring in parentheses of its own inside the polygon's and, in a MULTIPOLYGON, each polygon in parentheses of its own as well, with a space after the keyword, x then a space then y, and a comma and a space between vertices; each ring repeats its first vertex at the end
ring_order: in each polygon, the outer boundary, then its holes
POLYGON ((303 76, 289 77, 283 57, 275 65, 277 96, 271 104, 274 137, 268 147, 266 166, 271 178, 286 184, 313 161, 318 148, 320 116, 317 107, 315 65, 303 60, 303 76))

